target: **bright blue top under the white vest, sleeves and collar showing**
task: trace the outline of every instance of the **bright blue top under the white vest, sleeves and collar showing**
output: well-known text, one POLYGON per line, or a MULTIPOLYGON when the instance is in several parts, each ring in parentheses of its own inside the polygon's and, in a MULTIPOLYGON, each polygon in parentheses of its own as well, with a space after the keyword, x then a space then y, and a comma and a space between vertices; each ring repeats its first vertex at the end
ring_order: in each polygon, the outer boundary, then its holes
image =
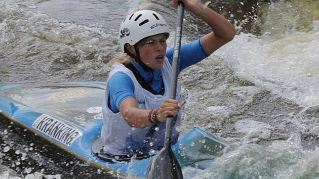
MULTIPOLYGON (((174 48, 170 48, 166 51, 166 57, 170 64, 173 64, 174 48)), ((180 49, 180 63, 179 70, 181 72, 186 67, 202 61, 210 54, 203 47, 202 38, 185 43, 181 45, 180 49)), ((145 71, 141 66, 132 62, 134 67, 139 71, 145 81, 149 81, 152 77, 150 71, 145 71)), ((162 88, 162 73, 161 69, 153 70, 153 82, 150 85, 155 92, 160 92, 162 88)), ((109 105, 113 113, 117 113, 122 101, 127 98, 135 98, 134 96, 134 83, 132 79, 125 73, 115 73, 110 77, 108 86, 109 88, 109 105)))

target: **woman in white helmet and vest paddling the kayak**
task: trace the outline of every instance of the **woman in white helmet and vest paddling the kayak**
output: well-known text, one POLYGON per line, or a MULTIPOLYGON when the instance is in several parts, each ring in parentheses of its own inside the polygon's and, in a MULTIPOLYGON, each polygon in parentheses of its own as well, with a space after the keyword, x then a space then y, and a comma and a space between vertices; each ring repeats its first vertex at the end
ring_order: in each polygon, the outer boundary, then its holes
MULTIPOLYGON (((185 9, 202 18, 212 32, 182 44, 179 72, 202 61, 225 43, 236 30, 221 15, 197 0, 183 0, 185 9)), ((173 0, 178 7, 178 0, 173 0)), ((127 55, 115 58, 103 101, 101 139, 104 152, 116 158, 150 155, 164 145, 167 116, 180 125, 180 85, 176 100, 169 98, 173 48, 167 51, 169 28, 163 17, 149 10, 127 16, 120 27, 119 44, 127 55)), ((172 142, 179 132, 173 128, 172 142)))

